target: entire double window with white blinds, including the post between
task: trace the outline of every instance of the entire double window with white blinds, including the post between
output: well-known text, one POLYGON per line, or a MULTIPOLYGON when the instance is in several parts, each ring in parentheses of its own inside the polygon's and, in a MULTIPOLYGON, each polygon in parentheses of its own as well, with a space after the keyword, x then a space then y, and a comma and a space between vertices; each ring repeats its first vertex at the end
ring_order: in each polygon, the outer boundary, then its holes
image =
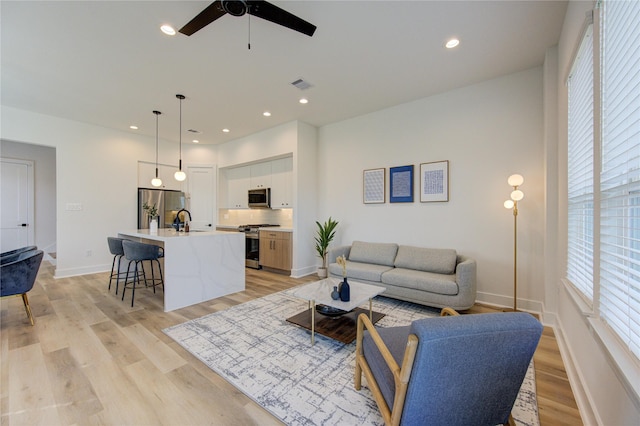
POLYGON ((599 4, 568 79, 567 278, 638 361, 640 2, 599 4))

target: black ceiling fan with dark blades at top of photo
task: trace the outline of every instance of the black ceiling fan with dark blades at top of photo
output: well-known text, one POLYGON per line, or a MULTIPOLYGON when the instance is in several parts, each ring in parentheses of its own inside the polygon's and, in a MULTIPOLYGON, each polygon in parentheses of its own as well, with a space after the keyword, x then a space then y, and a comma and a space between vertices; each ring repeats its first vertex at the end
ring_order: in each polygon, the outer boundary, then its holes
POLYGON ((316 30, 315 25, 264 0, 216 0, 180 28, 180 32, 190 36, 227 13, 232 16, 242 16, 248 13, 301 32, 309 37, 316 30))

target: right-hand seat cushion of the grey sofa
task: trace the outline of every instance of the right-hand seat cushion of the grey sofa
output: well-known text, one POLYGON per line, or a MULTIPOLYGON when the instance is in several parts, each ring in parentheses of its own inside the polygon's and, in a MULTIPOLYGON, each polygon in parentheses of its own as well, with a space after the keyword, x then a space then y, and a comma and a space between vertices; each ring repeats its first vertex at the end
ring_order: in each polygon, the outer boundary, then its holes
POLYGON ((382 274, 382 284, 451 296, 458 294, 455 275, 435 274, 415 269, 391 269, 382 274))

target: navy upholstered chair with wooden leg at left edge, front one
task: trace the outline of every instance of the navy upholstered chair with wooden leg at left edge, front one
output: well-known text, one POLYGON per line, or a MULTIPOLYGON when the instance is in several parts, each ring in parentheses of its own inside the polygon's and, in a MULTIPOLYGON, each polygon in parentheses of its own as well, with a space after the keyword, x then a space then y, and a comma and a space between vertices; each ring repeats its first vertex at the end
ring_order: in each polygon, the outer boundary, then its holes
POLYGON ((0 264, 0 296, 21 295, 31 325, 33 315, 27 292, 33 288, 43 255, 42 250, 26 250, 2 257, 0 264))

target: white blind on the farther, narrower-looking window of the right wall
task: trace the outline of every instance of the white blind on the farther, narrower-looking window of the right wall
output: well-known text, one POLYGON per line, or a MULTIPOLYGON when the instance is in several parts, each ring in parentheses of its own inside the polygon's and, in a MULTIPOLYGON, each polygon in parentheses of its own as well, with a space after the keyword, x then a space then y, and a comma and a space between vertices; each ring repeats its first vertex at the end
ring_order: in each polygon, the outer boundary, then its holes
POLYGON ((593 303, 593 25, 568 80, 567 278, 593 303))

